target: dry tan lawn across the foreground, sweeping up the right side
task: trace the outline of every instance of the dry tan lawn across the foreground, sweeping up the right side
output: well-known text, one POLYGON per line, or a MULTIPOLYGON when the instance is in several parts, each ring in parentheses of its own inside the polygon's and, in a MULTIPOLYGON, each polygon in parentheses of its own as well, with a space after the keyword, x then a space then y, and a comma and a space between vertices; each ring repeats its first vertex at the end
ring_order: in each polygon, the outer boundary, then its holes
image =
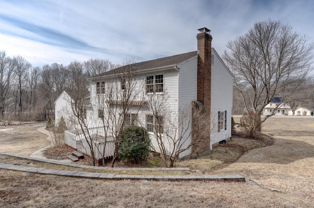
POLYGON ((313 208, 314 118, 269 118, 263 132, 275 138, 272 146, 250 150, 211 173, 239 174, 255 183, 146 184, 0 169, 0 207, 313 208))

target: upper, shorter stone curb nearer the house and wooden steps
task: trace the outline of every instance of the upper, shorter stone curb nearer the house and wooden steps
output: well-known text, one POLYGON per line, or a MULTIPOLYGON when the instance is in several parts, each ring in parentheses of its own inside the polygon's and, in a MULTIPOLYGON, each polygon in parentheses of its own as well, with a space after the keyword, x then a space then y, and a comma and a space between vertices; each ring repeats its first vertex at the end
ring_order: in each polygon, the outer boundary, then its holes
POLYGON ((90 166, 90 165, 83 165, 83 164, 75 164, 75 163, 65 163, 65 162, 58 162, 58 161, 51 161, 39 158, 31 158, 27 156, 21 155, 14 155, 10 153, 3 153, 0 152, 1 155, 12 156, 21 159, 28 159, 32 161, 39 161, 39 162, 49 162, 52 164, 59 164, 59 165, 66 165, 66 166, 73 166, 73 167, 83 167, 83 168, 90 168, 95 170, 179 170, 179 171, 191 171, 188 167, 100 167, 100 166, 90 166))

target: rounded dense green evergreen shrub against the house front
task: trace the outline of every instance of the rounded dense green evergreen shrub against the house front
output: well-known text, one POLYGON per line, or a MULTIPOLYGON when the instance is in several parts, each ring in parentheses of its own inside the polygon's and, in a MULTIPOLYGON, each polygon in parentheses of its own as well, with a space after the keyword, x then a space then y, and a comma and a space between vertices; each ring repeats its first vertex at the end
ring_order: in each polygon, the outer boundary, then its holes
POLYGON ((121 134, 119 158, 139 163, 145 161, 150 154, 149 134, 143 127, 131 126, 121 134))

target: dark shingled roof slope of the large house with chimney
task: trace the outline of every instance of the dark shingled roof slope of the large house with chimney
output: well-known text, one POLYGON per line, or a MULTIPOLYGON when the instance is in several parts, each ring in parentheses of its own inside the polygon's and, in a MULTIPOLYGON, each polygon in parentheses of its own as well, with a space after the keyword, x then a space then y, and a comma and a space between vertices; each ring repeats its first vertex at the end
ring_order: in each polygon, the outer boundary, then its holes
POLYGON ((111 75, 111 74, 117 74, 121 73, 125 70, 128 69, 134 69, 134 70, 143 70, 143 69, 154 69, 158 67, 166 67, 166 66, 171 66, 171 65, 176 65, 179 64, 189 58, 192 58, 193 56, 197 55, 197 51, 192 51, 188 53, 183 53, 179 55, 174 55, 174 56, 168 56, 164 58, 159 58, 159 59, 154 59, 150 61, 144 61, 144 62, 139 62, 139 63, 134 63, 134 64, 129 64, 125 65, 116 69, 112 69, 110 71, 106 71, 102 74, 90 77, 88 79, 93 79, 97 78, 100 76, 106 76, 106 75, 111 75))

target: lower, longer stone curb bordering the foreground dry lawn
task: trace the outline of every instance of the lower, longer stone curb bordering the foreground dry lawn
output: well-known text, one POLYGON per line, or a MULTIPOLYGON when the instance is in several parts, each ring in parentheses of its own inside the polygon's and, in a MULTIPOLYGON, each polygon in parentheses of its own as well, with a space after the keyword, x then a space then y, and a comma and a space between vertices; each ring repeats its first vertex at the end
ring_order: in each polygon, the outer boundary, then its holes
POLYGON ((68 170, 55 170, 37 167, 27 167, 22 165, 0 163, 0 169, 17 170, 39 174, 49 174, 57 176, 68 176, 76 178, 87 178, 97 180, 147 180, 147 181, 228 181, 245 182, 245 178, 240 175, 183 175, 183 176, 145 176, 145 175, 121 175, 108 173, 92 173, 68 170))

